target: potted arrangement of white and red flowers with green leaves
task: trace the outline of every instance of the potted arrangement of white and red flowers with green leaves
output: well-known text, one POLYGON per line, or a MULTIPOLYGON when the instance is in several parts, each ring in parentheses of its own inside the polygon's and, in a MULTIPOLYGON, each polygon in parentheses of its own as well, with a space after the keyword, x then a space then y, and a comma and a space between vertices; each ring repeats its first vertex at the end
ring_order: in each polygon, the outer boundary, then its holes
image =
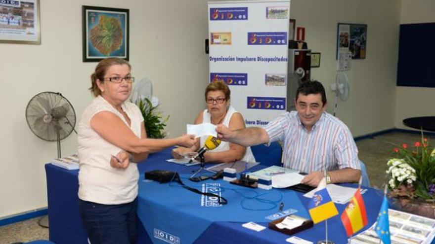
POLYGON ((429 145, 422 133, 421 141, 414 142, 414 148, 408 144, 393 149, 394 158, 387 162, 390 176, 388 182, 390 196, 405 201, 422 199, 435 203, 435 149, 429 145))

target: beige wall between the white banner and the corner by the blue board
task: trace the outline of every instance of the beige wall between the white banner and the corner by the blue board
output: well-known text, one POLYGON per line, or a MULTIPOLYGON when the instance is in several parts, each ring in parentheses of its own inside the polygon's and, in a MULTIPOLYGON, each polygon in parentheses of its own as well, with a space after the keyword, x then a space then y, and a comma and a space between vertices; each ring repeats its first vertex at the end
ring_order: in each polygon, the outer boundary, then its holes
POLYGON ((399 33, 399 2, 396 0, 292 0, 291 18, 306 28, 308 48, 321 52, 320 68, 311 78, 323 82, 328 111, 335 94, 330 84, 336 75, 337 23, 367 24, 366 59, 353 60, 347 72, 350 94, 339 99, 337 117, 354 137, 394 127, 395 82, 399 33))

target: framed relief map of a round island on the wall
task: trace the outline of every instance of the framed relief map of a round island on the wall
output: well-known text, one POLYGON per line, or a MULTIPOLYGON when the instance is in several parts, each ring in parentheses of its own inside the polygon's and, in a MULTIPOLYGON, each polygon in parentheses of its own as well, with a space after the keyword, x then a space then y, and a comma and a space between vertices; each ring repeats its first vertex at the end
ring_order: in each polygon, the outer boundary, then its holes
POLYGON ((129 60, 129 9, 82 6, 83 62, 129 60))

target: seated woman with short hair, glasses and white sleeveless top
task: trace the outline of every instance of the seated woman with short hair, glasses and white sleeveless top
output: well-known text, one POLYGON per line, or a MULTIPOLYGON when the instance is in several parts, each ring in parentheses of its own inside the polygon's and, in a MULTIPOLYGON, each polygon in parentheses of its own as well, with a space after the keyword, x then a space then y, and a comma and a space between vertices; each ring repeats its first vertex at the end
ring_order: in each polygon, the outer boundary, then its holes
MULTIPOLYGON (((198 114, 195 124, 224 124, 230 130, 245 128, 242 114, 230 105, 230 94, 231 91, 225 82, 214 81, 210 83, 205 91, 207 109, 198 114)), ((177 147, 173 150, 172 155, 176 159, 182 158, 183 155, 194 155, 194 152, 204 145, 206 139, 207 136, 201 137, 200 142, 192 147, 177 147)), ((205 162, 227 163, 237 160, 255 162, 251 147, 222 141, 217 148, 204 153, 205 162)))

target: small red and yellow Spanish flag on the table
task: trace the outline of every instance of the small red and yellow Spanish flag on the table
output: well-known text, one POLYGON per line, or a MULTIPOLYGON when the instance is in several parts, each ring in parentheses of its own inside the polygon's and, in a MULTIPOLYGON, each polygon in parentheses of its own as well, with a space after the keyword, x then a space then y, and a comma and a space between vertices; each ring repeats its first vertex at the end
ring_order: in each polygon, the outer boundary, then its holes
POLYGON ((342 213, 341 218, 348 237, 367 224, 367 213, 359 187, 350 200, 348 207, 346 207, 345 211, 342 213))

